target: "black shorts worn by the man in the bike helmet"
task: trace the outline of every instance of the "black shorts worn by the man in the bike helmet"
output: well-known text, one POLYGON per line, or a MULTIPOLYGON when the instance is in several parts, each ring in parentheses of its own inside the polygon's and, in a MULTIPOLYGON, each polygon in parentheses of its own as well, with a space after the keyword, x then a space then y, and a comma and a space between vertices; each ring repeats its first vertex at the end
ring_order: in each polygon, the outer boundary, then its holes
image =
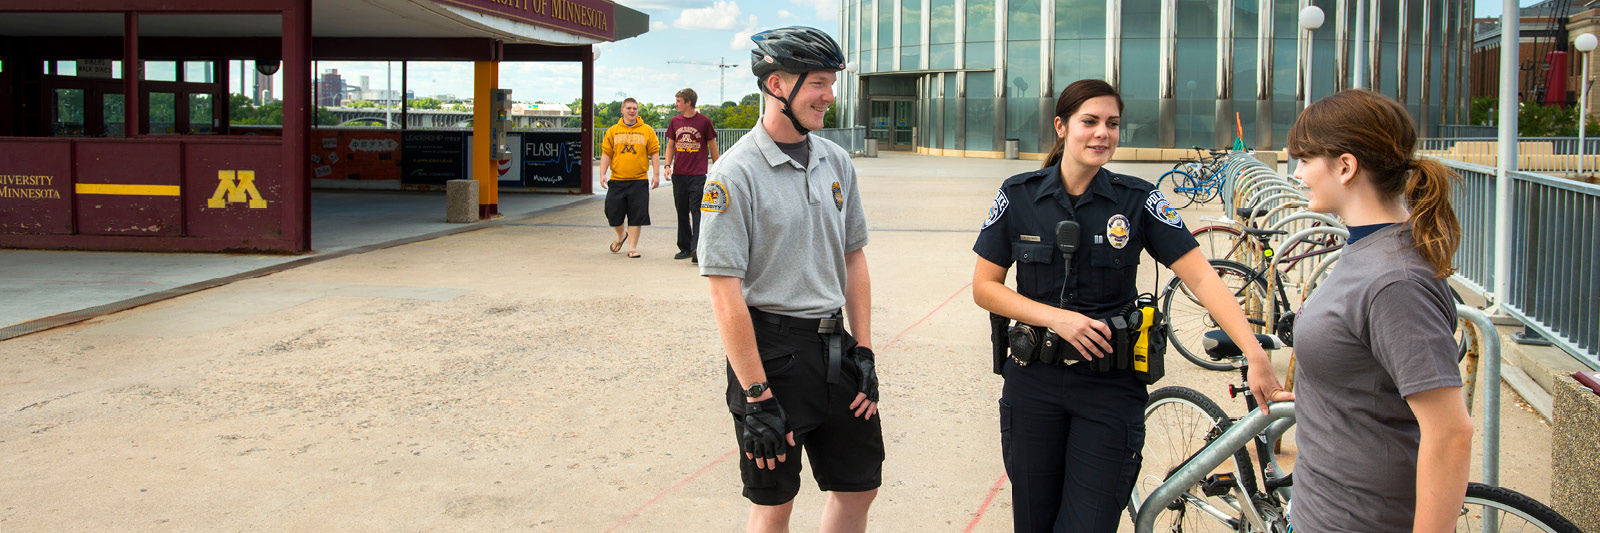
MULTIPOLYGON (((800 493, 800 450, 805 450, 811 477, 821 490, 859 493, 883 485, 882 418, 872 415, 872 419, 861 419, 850 410, 850 402, 859 391, 856 365, 848 355, 856 339, 845 335, 842 379, 829 384, 827 336, 754 322, 766 381, 789 416, 797 448, 789 450, 787 461, 778 463, 776 471, 755 467, 755 461, 747 459, 741 450, 744 498, 758 506, 781 506, 794 499, 800 493)), ((730 410, 741 408, 733 416, 734 440, 744 431, 742 403, 744 394, 730 367, 728 405, 730 410)))

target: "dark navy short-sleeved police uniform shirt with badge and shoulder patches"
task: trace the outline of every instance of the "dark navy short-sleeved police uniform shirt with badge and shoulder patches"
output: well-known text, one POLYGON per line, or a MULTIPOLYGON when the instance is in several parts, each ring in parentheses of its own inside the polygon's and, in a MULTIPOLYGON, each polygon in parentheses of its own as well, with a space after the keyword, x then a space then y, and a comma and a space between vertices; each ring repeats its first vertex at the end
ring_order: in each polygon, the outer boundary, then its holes
POLYGON ((1093 319, 1138 298, 1139 251, 1171 266, 1200 245, 1178 210, 1150 182, 1101 168, 1075 202, 1051 165, 1011 176, 1000 186, 973 251, 1002 267, 1016 267, 1018 293, 1093 319), (1056 248, 1056 222, 1078 222, 1072 280, 1056 248), (1062 293, 1062 283, 1067 283, 1062 293))

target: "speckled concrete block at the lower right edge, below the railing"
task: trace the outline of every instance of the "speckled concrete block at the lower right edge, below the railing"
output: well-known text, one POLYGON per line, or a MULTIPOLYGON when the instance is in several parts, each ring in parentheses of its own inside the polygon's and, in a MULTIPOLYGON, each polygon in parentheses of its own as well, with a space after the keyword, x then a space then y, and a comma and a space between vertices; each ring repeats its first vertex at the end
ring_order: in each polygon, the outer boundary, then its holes
POLYGON ((1600 395, 1571 373, 1555 373, 1550 413, 1550 509, 1578 525, 1600 531, 1600 395))

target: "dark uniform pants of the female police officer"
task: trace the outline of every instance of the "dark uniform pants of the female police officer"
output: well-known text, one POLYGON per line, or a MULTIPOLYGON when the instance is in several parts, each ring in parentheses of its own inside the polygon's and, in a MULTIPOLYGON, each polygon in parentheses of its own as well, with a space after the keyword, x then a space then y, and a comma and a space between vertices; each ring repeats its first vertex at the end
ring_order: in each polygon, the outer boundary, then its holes
POLYGON ((1117 531, 1139 475, 1149 397, 1125 370, 1006 362, 1000 448, 1016 531, 1117 531))

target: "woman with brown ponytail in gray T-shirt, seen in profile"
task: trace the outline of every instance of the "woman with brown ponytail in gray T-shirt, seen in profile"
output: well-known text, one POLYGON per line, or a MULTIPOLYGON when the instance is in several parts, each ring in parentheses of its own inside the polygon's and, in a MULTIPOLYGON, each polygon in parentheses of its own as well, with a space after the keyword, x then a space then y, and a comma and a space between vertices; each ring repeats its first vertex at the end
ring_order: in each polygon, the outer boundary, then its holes
POLYGON ((1472 456, 1445 280, 1461 242, 1450 206, 1456 176, 1418 158, 1405 107, 1365 90, 1310 104, 1288 150, 1310 210, 1350 229, 1296 320, 1290 522, 1304 531, 1450 531, 1472 456))

